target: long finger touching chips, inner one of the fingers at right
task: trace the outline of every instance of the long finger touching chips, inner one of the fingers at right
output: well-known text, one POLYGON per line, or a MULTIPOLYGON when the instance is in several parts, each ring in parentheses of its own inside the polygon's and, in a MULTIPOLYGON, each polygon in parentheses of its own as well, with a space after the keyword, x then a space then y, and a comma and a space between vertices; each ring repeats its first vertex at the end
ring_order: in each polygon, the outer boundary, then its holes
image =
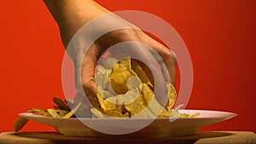
POLYGON ((156 99, 162 106, 166 106, 166 102, 168 101, 166 78, 161 72, 159 63, 150 52, 148 46, 142 43, 141 38, 143 37, 139 37, 137 31, 131 29, 117 31, 114 32, 114 34, 118 34, 119 36, 119 39, 117 39, 115 44, 115 47, 118 49, 116 49, 114 53, 117 53, 118 51, 119 54, 117 57, 126 55, 144 63, 140 66, 142 66, 143 71, 149 75, 151 82, 154 84, 154 95, 156 96, 156 99), (154 79, 154 81, 152 79, 154 79))

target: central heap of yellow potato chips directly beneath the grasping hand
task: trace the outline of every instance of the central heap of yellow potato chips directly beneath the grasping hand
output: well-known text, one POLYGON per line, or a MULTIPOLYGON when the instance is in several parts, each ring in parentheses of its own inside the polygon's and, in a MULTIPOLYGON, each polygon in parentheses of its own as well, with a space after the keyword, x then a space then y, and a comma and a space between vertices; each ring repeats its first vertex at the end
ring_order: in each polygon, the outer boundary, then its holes
POLYGON ((177 98, 173 85, 167 83, 169 101, 162 107, 147 74, 130 58, 119 62, 106 58, 96 67, 96 84, 100 104, 91 109, 96 118, 169 118, 177 98))

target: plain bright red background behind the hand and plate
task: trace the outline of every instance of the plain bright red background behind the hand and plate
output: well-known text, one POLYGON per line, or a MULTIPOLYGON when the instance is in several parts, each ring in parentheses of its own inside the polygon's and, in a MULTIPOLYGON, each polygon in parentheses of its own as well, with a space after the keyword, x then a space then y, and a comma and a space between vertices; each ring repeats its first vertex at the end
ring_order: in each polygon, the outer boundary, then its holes
MULTIPOLYGON (((254 0, 98 0, 110 10, 155 14, 179 32, 193 61, 195 81, 187 108, 238 113, 202 130, 253 130, 256 11, 254 0)), ((64 98, 58 27, 41 0, 0 5, 0 132, 12 131, 19 112, 52 107, 64 98)), ((29 122, 23 130, 54 130, 29 122)))

